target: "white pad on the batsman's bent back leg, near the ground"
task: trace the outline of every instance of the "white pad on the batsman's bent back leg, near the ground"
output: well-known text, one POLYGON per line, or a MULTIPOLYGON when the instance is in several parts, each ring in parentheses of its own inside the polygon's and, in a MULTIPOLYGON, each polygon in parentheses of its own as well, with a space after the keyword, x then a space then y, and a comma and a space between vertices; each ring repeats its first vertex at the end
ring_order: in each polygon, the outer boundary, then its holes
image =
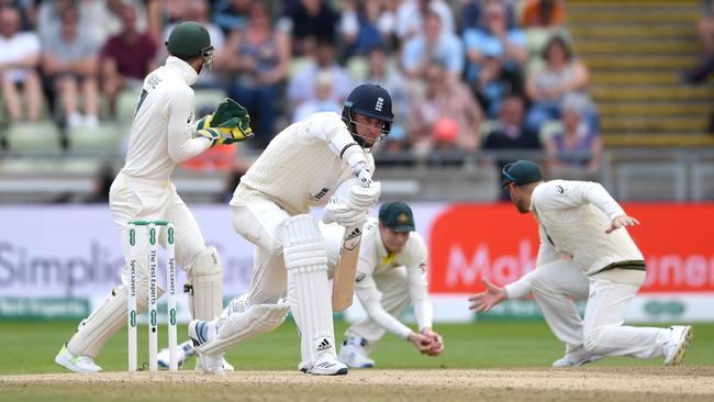
POLYGON ((258 304, 248 308, 244 313, 231 314, 220 320, 216 336, 197 349, 208 355, 226 351, 257 334, 277 328, 289 311, 290 306, 286 303, 258 304))

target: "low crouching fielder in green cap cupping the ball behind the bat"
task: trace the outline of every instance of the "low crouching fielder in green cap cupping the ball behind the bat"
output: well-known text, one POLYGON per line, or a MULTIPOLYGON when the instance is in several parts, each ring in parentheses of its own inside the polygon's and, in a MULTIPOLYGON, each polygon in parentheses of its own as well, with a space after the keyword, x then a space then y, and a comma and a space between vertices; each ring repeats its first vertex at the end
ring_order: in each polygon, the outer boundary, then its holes
MULTIPOLYGON (((337 265, 342 232, 337 225, 321 226, 327 242, 331 271, 337 265)), ((345 332, 339 361, 349 367, 373 367, 369 358, 375 344, 390 332, 411 342, 422 354, 437 356, 444 350, 442 336, 432 331, 433 308, 426 281, 426 244, 415 232, 412 210, 403 202, 388 202, 379 220, 368 219, 355 277, 355 294, 367 317, 345 332), (413 304, 419 333, 397 317, 413 304)))

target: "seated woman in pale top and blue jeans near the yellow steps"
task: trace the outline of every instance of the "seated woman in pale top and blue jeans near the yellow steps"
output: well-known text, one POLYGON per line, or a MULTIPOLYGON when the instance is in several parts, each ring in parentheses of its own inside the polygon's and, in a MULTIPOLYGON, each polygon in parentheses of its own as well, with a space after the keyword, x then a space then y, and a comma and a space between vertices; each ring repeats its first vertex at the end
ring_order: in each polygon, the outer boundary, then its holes
MULTIPOLYGON (((566 41, 560 36, 548 40, 543 52, 546 64, 540 70, 532 72, 526 80, 526 93, 533 102, 526 116, 528 130, 538 131, 548 120, 560 119, 562 99, 568 93, 582 93, 584 97, 590 74, 588 67, 576 58, 566 41)), ((592 104, 587 119, 594 124, 596 116, 592 104)))

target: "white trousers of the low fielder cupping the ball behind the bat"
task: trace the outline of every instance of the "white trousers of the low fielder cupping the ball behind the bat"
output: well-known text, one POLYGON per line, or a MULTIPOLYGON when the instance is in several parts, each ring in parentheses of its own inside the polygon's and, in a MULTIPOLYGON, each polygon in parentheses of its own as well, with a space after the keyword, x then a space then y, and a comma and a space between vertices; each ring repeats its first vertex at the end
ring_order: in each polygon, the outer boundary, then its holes
MULTIPOLYGON (((409 294, 409 278, 405 267, 392 268, 386 272, 373 276, 377 290, 382 293, 379 303, 384 311, 394 316, 404 311, 411 302, 409 294)), ((384 335, 387 330, 372 321, 369 316, 353 324, 345 332, 345 336, 358 336, 367 340, 365 349, 371 351, 375 344, 384 335)))

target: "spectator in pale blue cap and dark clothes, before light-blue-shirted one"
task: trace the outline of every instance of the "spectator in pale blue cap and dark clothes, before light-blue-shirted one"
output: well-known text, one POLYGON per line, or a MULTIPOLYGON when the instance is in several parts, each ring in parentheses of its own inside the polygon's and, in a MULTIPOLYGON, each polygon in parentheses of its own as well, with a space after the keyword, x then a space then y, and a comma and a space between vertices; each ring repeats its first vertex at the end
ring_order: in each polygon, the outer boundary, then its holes
POLYGON ((523 79, 517 69, 503 68, 503 47, 500 43, 484 46, 482 56, 483 64, 473 92, 487 116, 495 119, 505 96, 523 96, 523 79))

